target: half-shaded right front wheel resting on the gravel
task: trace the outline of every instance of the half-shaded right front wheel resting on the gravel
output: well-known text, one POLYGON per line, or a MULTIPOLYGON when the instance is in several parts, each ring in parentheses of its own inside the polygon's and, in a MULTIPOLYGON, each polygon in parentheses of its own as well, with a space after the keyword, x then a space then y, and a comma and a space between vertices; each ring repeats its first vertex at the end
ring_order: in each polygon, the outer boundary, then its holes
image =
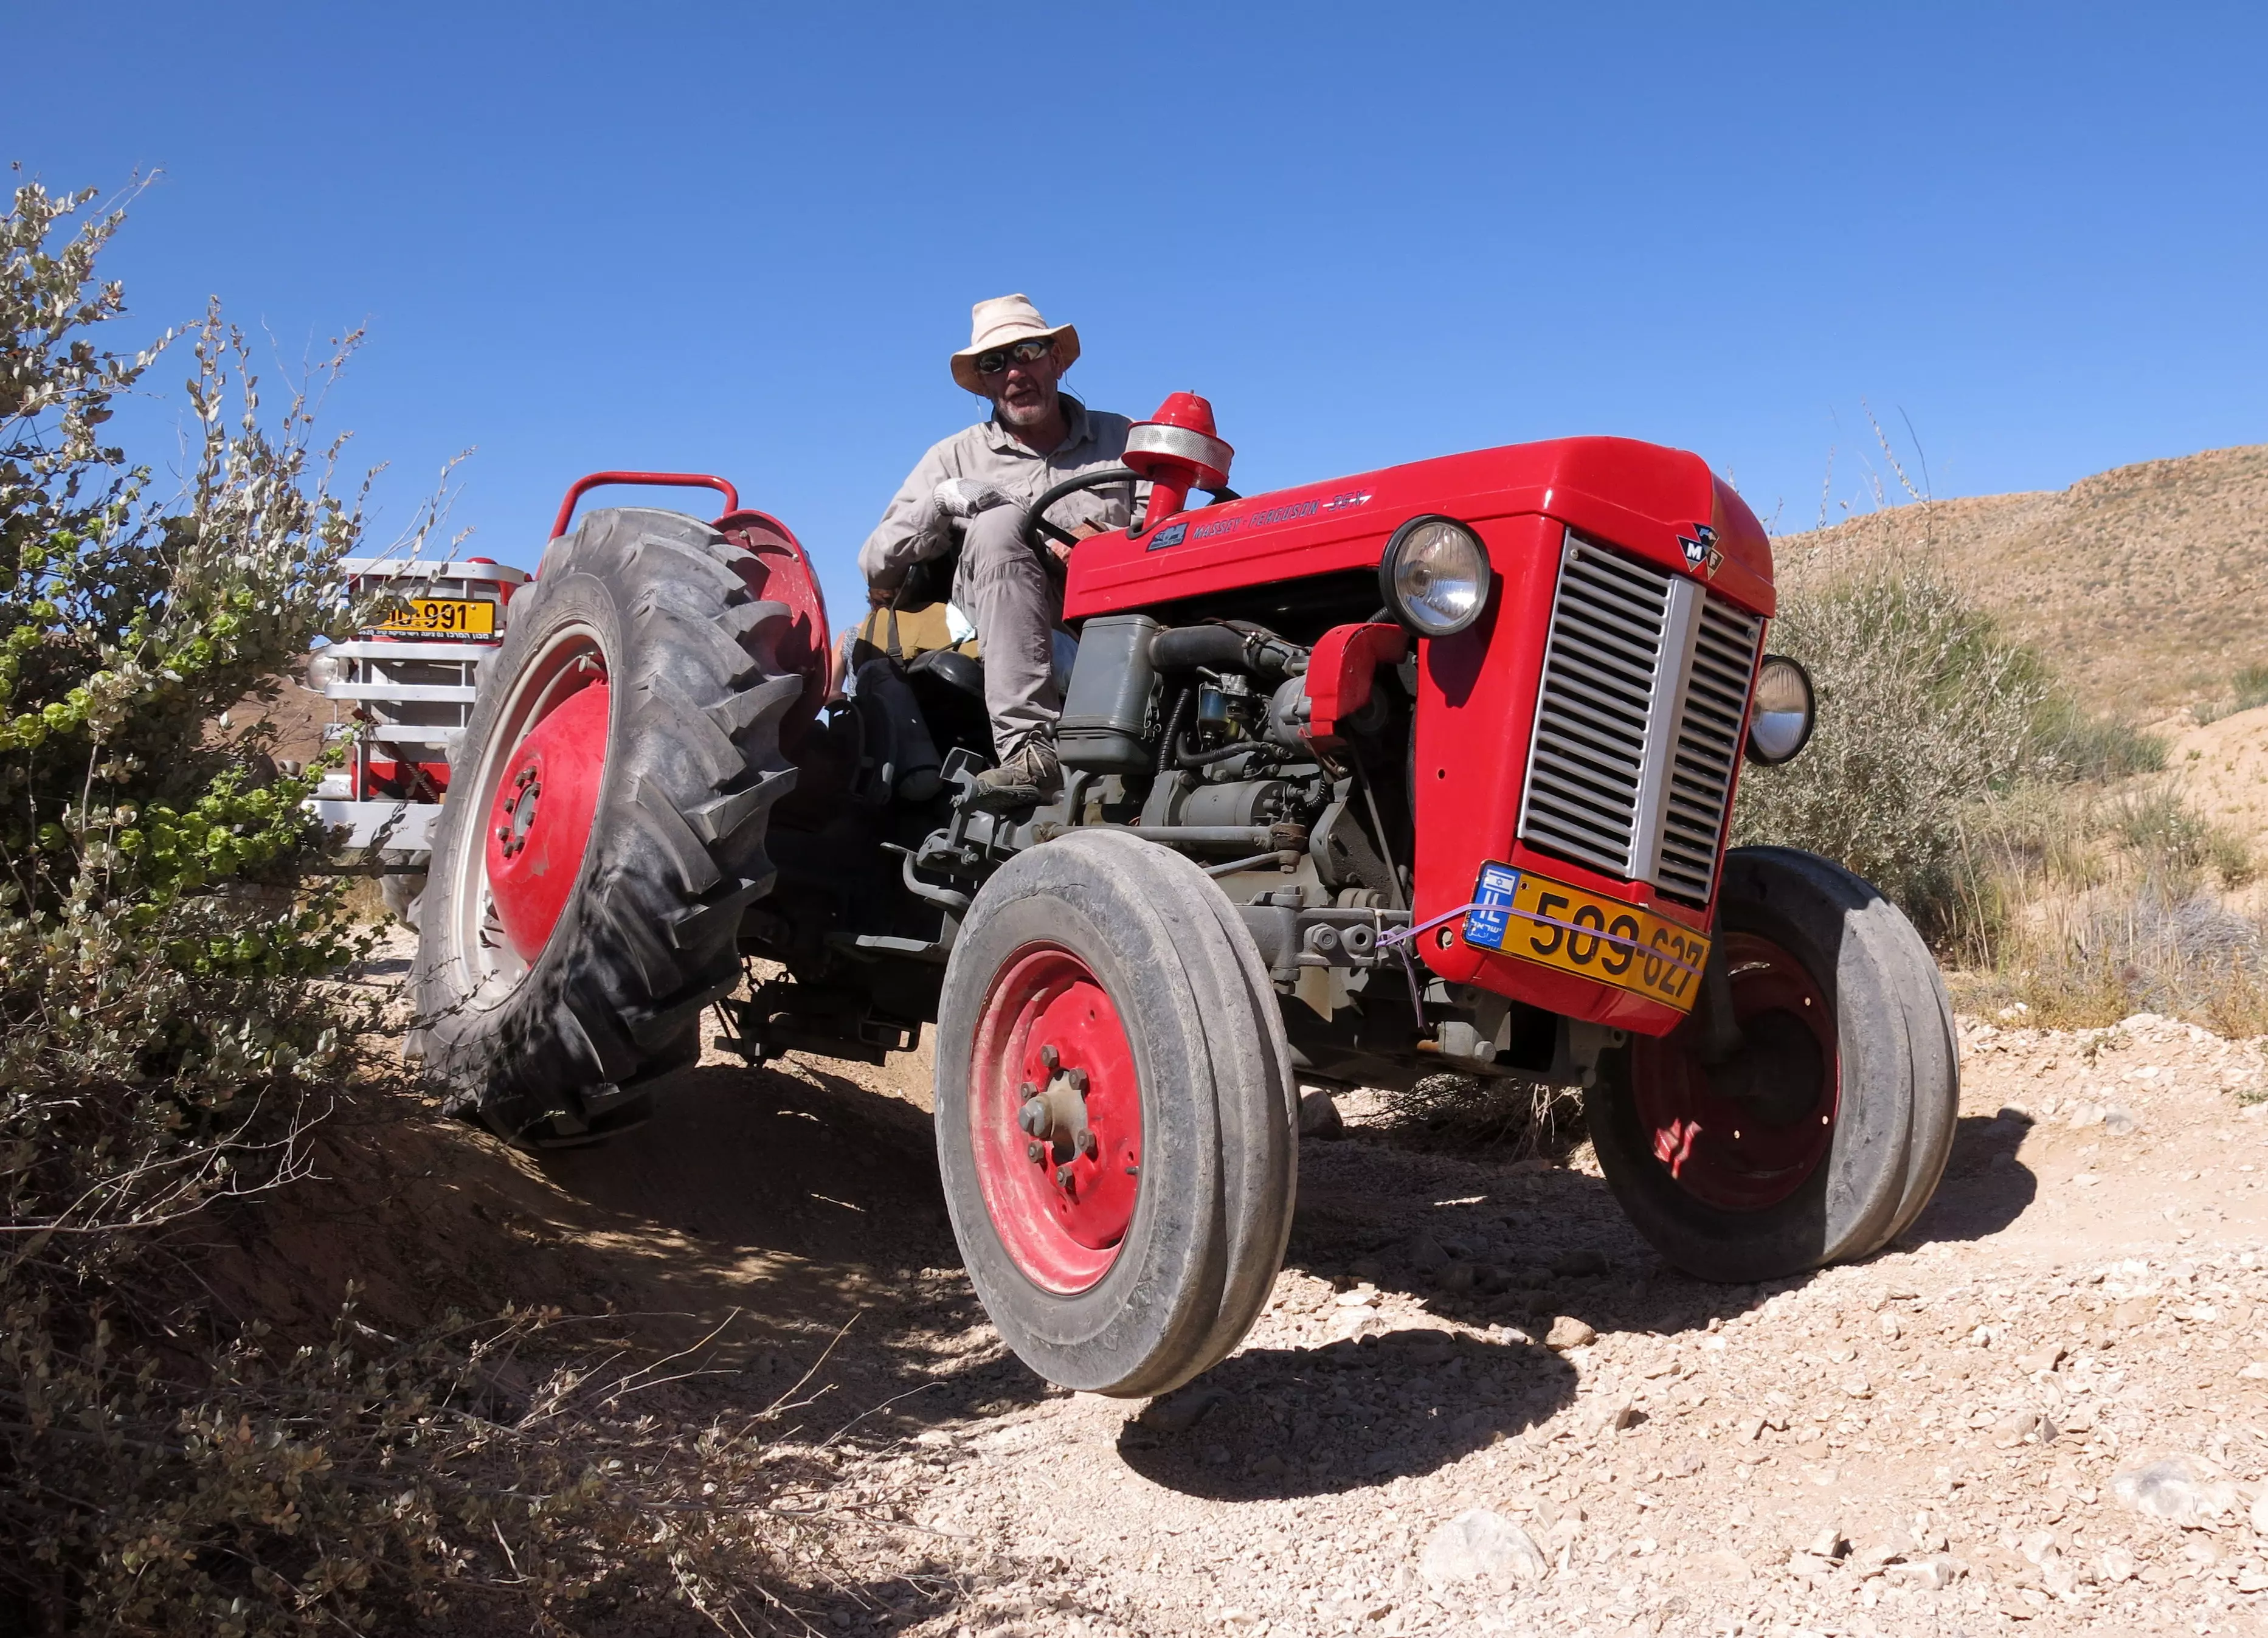
POLYGON ((1937 962, 1869 883, 1794 848, 1726 858, 1719 942, 1740 1050, 1701 1021, 1599 1059, 1599 1168, 1653 1248, 1701 1280, 1867 1257, 1928 1205, 1960 1069, 1937 962))

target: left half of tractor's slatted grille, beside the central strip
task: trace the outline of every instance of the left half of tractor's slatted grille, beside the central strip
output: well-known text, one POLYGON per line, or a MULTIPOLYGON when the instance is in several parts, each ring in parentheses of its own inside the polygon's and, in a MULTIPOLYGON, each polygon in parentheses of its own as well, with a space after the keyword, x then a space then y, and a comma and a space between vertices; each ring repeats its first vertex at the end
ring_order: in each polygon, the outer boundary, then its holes
POLYGON ((1520 837, 1608 876, 1642 873, 1647 724, 1674 579, 1574 535, 1560 554, 1520 837))

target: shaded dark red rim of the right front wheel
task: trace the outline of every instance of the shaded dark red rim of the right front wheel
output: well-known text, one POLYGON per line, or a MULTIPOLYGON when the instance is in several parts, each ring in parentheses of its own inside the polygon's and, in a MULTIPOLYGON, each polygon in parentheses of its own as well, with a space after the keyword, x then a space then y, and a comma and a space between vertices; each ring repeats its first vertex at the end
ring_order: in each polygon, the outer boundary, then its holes
POLYGON ((1819 1171, 1835 1146, 1842 1059, 1835 1012, 1810 969, 1767 937, 1728 932, 1733 1016, 1742 1028, 1787 1028, 1794 1019, 1819 1048, 1817 1084, 1774 1089, 1771 1105, 1724 1096, 1701 1062, 1701 1030, 1687 1019, 1665 1037, 1631 1046, 1640 1137, 1690 1196, 1719 1211, 1776 1207, 1819 1171))

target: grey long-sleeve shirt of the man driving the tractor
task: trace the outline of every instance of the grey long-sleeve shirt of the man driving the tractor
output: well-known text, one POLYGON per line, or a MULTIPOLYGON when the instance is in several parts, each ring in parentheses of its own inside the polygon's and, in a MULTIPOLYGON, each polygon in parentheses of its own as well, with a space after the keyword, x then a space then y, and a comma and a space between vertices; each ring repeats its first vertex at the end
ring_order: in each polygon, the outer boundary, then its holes
MULTIPOLYGON (((1064 442, 1048 456, 1034 454, 998 420, 978 422, 930 445, 930 451, 921 456, 921 463, 891 497, 882 522, 860 547, 860 574, 866 576, 869 585, 887 592, 905 579, 909 567, 946 551, 950 540, 932 499, 946 479, 975 479, 993 486, 1018 506, 1030 506, 1064 479, 1120 465, 1132 424, 1125 415, 1091 411, 1066 392, 1064 442)), ((1134 486, 1114 483, 1066 495, 1048 510, 1048 517, 1064 529, 1084 522, 1125 529, 1134 517, 1134 486)))

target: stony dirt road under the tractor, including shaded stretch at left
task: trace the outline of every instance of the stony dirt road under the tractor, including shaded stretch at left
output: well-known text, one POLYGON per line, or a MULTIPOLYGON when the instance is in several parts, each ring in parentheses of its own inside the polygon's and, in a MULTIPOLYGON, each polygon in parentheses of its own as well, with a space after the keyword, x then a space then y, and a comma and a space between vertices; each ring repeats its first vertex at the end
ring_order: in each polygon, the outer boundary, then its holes
POLYGON ((1930 1211, 1762 1289, 1672 1273, 1581 1164, 1352 1105, 1302 1143, 1268 1316, 1148 1409, 1048 1388, 984 1325, 919 1064, 710 1062, 544 1159, 435 1123, 295 1255, 311 1284, 352 1257, 381 1309, 728 1323, 687 1388, 719 1402, 816 1366, 792 1443, 896 1520, 821 1599, 837 1631, 2268 1633, 2261 1075, 2261 1044, 2148 1016, 1964 1023, 1930 1211), (2186 1484, 2139 1497, 2182 1522, 2121 1497, 2168 1457, 2186 1484))

